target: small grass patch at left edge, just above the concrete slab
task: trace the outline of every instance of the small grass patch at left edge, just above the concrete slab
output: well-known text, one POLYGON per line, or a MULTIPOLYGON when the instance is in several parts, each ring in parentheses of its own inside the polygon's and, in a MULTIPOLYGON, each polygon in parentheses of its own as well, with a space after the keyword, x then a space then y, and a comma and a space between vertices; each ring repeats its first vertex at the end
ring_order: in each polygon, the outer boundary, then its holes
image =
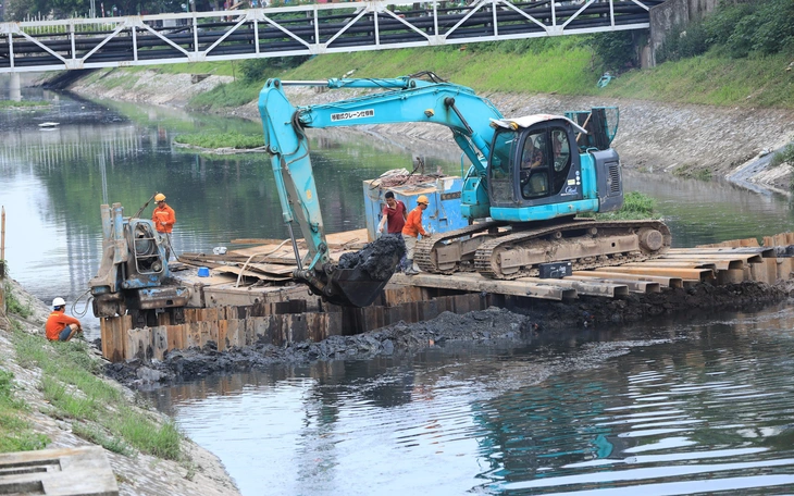
POLYGON ((50 439, 24 419, 28 407, 14 396, 14 374, 0 369, 0 452, 44 449, 50 439))

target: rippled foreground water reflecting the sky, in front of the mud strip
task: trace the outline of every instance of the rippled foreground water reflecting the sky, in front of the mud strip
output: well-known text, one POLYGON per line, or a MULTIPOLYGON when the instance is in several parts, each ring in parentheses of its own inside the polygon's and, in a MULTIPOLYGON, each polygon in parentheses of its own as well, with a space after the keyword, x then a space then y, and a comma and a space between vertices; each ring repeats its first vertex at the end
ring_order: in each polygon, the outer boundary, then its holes
MULTIPOLYGON (((152 392, 243 494, 783 494, 794 310, 152 392)), ((717 317, 717 319, 715 319, 717 317)))

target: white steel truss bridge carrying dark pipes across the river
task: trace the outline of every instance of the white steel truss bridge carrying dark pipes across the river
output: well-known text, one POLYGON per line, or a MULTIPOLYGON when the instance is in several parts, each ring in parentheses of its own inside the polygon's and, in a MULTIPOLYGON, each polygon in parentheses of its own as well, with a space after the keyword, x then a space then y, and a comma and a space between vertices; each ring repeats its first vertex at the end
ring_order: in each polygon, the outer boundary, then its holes
POLYGON ((0 74, 648 29, 665 0, 364 1, 0 23, 0 74))

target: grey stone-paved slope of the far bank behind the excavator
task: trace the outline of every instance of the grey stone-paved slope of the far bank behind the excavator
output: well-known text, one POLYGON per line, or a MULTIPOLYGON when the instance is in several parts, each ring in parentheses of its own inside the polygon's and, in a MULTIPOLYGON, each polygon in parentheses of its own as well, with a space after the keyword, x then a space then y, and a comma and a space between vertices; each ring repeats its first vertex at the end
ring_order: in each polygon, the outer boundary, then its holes
MULTIPOLYGON (((231 78, 210 76, 193 84, 190 75, 139 74, 138 83, 114 86, 108 82, 133 77, 112 71, 102 79, 77 82, 71 90, 94 98, 109 98, 153 104, 184 107, 201 91, 231 78)), ((312 88, 289 87, 296 104, 336 101, 361 95, 364 90, 318 92, 312 88)), ((624 166, 648 173, 683 173, 703 176, 707 171, 714 178, 734 181, 742 186, 757 186, 789 195, 791 168, 771 168, 757 161, 770 150, 794 141, 794 111, 663 103, 645 100, 609 99, 600 97, 567 97, 557 95, 483 94, 508 116, 531 113, 561 113, 592 107, 620 108, 620 126, 615 147, 624 166)), ((224 112, 259 121, 257 102, 224 112)), ((365 134, 369 140, 383 140, 405 147, 415 156, 460 157, 451 134, 443 126, 430 124, 397 124, 357 126, 343 129, 317 131, 324 134, 365 134)))

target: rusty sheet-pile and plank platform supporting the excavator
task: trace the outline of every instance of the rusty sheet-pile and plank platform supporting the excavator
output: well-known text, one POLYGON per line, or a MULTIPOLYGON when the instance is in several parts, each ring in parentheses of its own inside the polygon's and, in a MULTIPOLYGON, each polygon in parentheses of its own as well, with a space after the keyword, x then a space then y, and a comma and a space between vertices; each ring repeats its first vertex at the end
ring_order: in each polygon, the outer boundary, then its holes
MULTIPOLYGON (((364 236, 365 231, 359 230, 330 237, 333 257, 360 249, 364 236)), ((630 293, 660 293, 700 283, 774 284, 792 277, 794 259, 777 257, 774 249, 790 246, 790 241, 794 241, 793 233, 767 237, 766 246, 759 246, 756 239, 740 239, 677 248, 658 259, 576 271, 565 278, 500 281, 476 273, 395 274, 376 301, 363 309, 324 303, 306 286, 293 283, 288 277, 294 268, 291 244, 264 245, 225 256, 195 253, 190 257, 202 266, 214 266, 209 277, 199 277, 190 264, 176 272, 190 288, 189 308, 166 309, 158 314, 158 325, 151 327, 135 327, 129 315, 101 319, 102 354, 111 361, 162 359, 168 350, 210 342, 219 350, 257 343, 283 346, 318 342, 399 321, 430 320, 444 311, 482 310, 503 305, 506 298, 563 301, 583 296, 620 298, 630 293)))

